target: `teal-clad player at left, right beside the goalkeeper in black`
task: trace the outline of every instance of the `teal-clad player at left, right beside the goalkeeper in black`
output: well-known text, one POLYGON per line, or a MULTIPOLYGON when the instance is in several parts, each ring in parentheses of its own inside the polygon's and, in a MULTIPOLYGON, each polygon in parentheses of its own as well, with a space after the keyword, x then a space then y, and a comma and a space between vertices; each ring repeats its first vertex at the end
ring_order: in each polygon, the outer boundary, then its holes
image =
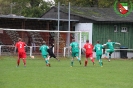
POLYGON ((46 42, 43 41, 43 45, 40 46, 39 50, 41 51, 42 57, 45 59, 46 66, 50 67, 50 63, 49 63, 49 60, 48 60, 48 49, 49 49, 49 47, 46 45, 46 42))

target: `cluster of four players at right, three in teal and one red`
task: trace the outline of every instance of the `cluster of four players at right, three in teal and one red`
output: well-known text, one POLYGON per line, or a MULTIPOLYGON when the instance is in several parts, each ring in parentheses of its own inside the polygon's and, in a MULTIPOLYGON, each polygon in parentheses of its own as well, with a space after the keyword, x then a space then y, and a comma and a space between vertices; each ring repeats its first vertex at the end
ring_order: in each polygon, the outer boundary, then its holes
MULTIPOLYGON (((103 67, 103 62, 102 62, 102 54, 105 54, 105 58, 108 57, 108 61, 110 62, 111 59, 111 54, 114 52, 114 45, 115 44, 119 44, 117 42, 111 42, 110 39, 108 39, 108 42, 106 44, 100 44, 100 41, 97 41, 96 45, 92 45, 91 43, 89 43, 89 40, 86 40, 86 43, 84 44, 82 50, 85 53, 85 61, 84 61, 84 66, 87 66, 88 64, 88 58, 90 58, 90 60, 92 61, 93 65, 95 65, 94 62, 94 57, 93 57, 93 51, 96 52, 96 59, 99 61, 99 64, 101 67, 103 67), (108 47, 108 49, 105 51, 105 46, 108 47)), ((71 60, 71 67, 73 67, 73 62, 74 62, 74 57, 76 57, 79 61, 79 63, 81 64, 81 59, 78 57, 79 55, 79 44, 77 42, 75 42, 75 40, 72 41, 72 43, 70 44, 70 52, 72 53, 72 60, 71 60)))

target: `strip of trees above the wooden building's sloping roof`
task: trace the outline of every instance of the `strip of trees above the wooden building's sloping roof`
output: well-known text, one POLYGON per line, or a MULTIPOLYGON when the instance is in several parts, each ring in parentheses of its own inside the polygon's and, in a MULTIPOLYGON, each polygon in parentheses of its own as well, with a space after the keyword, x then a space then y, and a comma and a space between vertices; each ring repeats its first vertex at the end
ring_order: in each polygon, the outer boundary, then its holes
MULTIPOLYGON (((80 6, 80 7, 99 7, 107 8, 113 7, 116 0, 54 0, 57 5, 58 2, 64 5, 68 5, 68 2, 71 3, 71 6, 80 6)), ((122 2, 128 2, 133 0, 119 0, 122 2)))

